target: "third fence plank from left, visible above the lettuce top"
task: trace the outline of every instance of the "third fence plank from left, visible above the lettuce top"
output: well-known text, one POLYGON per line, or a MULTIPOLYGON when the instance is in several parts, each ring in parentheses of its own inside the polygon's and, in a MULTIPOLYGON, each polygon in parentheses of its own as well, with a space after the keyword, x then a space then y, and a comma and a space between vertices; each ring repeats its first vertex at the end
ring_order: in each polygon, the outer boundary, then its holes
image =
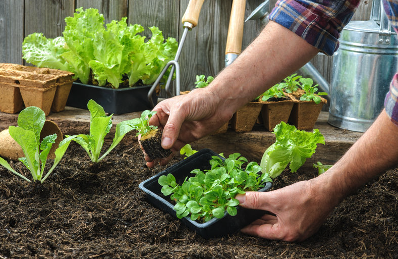
POLYGON ((76 9, 83 7, 98 9, 103 14, 104 22, 109 23, 112 20, 119 21, 123 17, 127 17, 128 1, 127 0, 77 0, 76 9))

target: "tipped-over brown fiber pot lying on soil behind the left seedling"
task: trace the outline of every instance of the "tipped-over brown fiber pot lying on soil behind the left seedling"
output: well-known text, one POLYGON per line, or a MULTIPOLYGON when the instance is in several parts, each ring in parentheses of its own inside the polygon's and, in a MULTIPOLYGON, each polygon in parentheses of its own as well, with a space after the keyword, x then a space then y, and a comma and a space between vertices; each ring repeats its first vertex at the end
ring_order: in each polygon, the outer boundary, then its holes
MULTIPOLYGON (((48 153, 48 159, 55 158, 55 149, 63 139, 62 132, 58 125, 52 121, 45 121, 40 132, 40 141, 48 135, 56 134, 55 143, 52 144, 51 150, 48 153)), ((8 129, 0 132, 0 157, 18 161, 19 158, 25 157, 21 146, 10 136, 8 129)))

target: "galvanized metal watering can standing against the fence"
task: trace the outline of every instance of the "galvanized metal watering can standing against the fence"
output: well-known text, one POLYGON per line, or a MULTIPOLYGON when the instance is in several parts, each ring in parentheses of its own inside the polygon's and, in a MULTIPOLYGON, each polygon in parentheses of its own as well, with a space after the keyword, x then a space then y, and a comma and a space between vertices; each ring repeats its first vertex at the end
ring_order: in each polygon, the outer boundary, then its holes
MULTIPOLYGON (((380 3, 373 2, 370 20, 351 21, 343 29, 333 55, 330 85, 311 63, 300 69, 328 93, 328 123, 338 128, 366 131, 383 109, 389 83, 398 70, 398 40, 380 3)), ((253 17, 259 14, 253 13, 247 20, 258 19, 253 17)))

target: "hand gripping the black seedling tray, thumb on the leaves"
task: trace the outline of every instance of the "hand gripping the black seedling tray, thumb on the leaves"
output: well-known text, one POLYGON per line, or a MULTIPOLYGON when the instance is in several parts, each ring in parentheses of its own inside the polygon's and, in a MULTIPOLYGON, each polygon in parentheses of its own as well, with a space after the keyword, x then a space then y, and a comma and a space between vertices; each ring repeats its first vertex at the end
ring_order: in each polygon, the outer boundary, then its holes
POLYGON ((236 198, 244 208, 276 215, 264 215, 241 229, 243 233, 285 241, 302 241, 313 235, 339 202, 315 179, 270 192, 246 192, 236 198))

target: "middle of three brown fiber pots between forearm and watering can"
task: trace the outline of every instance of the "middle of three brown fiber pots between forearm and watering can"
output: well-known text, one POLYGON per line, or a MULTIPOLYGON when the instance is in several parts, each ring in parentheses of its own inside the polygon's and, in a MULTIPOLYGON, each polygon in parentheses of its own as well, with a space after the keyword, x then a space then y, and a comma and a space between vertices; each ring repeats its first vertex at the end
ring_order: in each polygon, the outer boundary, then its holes
POLYGON ((264 127, 272 131, 280 122, 288 122, 290 113, 294 106, 292 100, 265 101, 261 109, 261 117, 264 127))

